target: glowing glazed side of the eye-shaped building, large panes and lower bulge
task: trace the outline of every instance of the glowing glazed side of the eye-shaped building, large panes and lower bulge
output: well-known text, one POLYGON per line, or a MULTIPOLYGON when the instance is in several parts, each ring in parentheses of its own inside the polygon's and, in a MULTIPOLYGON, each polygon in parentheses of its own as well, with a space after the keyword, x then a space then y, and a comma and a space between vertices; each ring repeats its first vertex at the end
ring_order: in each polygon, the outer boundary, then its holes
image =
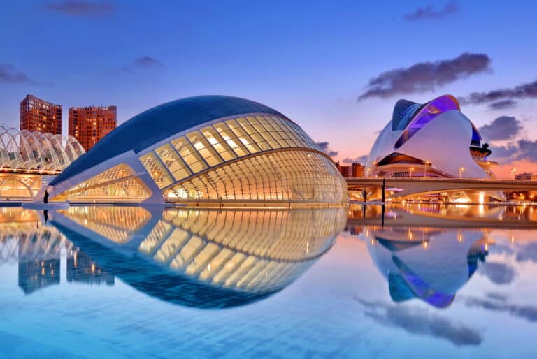
POLYGON ((345 201, 344 180, 318 151, 293 122, 248 116, 172 139, 141 162, 169 202, 345 201))

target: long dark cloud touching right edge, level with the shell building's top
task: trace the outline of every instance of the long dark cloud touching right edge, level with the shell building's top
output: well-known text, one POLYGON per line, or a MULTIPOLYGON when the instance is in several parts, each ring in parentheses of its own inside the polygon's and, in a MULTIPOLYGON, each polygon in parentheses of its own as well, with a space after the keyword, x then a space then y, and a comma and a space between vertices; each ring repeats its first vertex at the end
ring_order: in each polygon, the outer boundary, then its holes
POLYGON ((510 89, 473 92, 466 97, 459 98, 459 101, 463 105, 480 105, 482 103, 498 103, 499 101, 513 101, 524 98, 537 98, 537 80, 510 89))

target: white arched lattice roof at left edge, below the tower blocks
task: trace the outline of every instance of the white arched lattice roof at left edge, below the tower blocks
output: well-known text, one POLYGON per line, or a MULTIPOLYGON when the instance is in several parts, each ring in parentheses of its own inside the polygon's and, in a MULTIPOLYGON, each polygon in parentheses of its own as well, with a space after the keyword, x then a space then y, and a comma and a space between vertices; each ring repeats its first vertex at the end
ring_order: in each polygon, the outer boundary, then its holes
POLYGON ((59 173, 84 153, 72 136, 0 126, 0 170, 3 171, 59 173))

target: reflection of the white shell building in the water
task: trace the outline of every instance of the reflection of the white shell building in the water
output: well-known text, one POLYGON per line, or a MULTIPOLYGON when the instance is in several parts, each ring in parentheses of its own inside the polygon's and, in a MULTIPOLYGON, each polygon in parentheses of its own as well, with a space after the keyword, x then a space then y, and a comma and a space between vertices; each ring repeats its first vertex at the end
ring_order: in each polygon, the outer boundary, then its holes
POLYGON ((480 230, 366 226, 363 234, 394 302, 420 298, 438 308, 451 305, 492 244, 480 230))

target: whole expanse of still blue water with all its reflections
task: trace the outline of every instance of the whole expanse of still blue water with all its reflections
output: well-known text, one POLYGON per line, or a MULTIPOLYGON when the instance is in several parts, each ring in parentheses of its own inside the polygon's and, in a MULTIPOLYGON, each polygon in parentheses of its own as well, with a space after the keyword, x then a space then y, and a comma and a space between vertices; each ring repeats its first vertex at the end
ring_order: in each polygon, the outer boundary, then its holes
POLYGON ((0 208, 0 358, 535 358, 537 208, 0 208))

